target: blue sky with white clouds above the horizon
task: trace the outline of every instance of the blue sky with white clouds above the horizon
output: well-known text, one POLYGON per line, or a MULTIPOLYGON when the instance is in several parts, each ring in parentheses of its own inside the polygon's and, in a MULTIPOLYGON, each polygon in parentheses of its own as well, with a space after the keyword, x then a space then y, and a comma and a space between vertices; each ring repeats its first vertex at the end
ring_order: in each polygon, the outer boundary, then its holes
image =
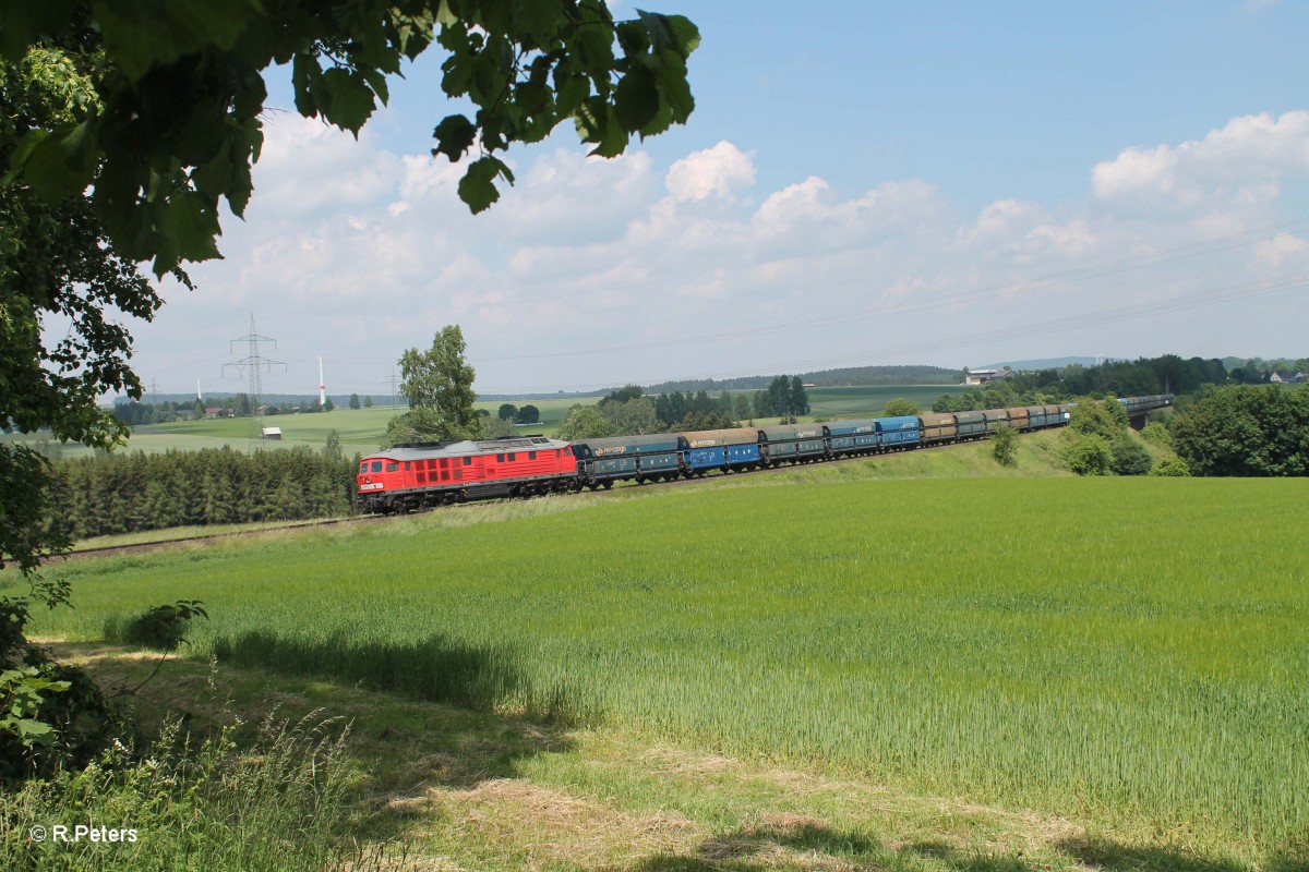
POLYGON ((315 394, 322 356, 338 396, 445 324, 487 395, 1309 356, 1309 4, 643 5, 700 27, 690 123, 615 159, 562 126, 480 216, 429 154, 436 51, 357 141, 271 111, 224 259, 126 322, 143 383, 245 390, 251 318, 264 392, 315 394))

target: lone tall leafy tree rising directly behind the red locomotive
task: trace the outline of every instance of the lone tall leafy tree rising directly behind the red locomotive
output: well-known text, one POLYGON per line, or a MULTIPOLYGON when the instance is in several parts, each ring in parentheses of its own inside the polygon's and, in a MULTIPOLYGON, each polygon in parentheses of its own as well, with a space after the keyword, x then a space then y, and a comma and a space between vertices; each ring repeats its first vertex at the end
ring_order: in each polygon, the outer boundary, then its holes
POLYGON ((465 350, 463 331, 448 324, 432 337, 432 348, 411 348, 401 356, 401 395, 410 412, 387 424, 391 444, 478 439, 486 434, 473 405, 478 399, 473 391, 476 373, 463 360, 465 350))

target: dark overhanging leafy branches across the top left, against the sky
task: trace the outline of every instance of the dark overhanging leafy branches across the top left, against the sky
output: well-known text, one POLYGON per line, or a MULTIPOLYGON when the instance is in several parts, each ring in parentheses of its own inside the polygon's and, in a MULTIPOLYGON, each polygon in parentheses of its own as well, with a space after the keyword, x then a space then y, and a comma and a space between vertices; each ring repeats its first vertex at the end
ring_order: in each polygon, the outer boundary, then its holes
POLYGON ((90 203, 130 261, 154 273, 219 256, 219 203, 241 216, 263 145, 264 71, 288 65, 296 110, 357 135, 389 98, 387 77, 433 44, 441 90, 473 118, 436 126, 433 154, 470 150, 459 197, 480 212, 513 182, 496 157, 571 119, 593 154, 685 123, 686 61, 699 31, 682 16, 615 21, 603 0, 43 0, 10 3, 0 56, 96 43, 93 92, 68 118, 27 131, 13 170, 54 201, 90 203))

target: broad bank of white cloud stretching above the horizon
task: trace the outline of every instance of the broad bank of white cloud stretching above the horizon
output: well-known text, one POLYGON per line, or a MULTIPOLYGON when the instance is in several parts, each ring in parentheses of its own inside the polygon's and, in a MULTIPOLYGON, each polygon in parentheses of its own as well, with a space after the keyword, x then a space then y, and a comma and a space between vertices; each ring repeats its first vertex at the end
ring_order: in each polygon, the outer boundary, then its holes
MULTIPOLYGON (((484 391, 788 362, 1191 353, 1160 319, 1033 331, 1012 346, 945 340, 1309 267, 1309 242, 1291 233, 1203 243, 1284 220, 1287 179, 1309 171, 1305 133, 1309 112, 1237 118, 1181 144, 1124 149, 1092 171, 1089 204, 999 199, 980 210, 922 179, 851 192, 808 175, 755 190, 751 156, 729 141, 666 169, 640 150, 614 161, 525 152, 518 184, 473 217, 456 195, 462 165, 289 119, 270 126, 249 221, 226 222, 228 259, 196 267, 200 290, 170 292, 160 324, 140 331, 143 374, 194 387, 217 371, 202 358, 221 360, 250 311, 279 339, 279 360, 323 350, 330 380, 378 395, 403 348, 456 322, 484 391), (1147 256, 1160 251, 1175 254, 1147 256), (696 337, 707 339, 685 341, 696 337), (933 341, 944 346, 886 357, 933 341), (660 346, 631 348, 647 344, 660 346)), ((1240 305, 1253 318, 1259 301, 1240 305)), ((1213 316, 1232 341, 1213 353, 1270 341, 1267 319, 1246 328, 1230 311, 1213 316)), ((270 390, 297 377, 279 378, 270 390)))

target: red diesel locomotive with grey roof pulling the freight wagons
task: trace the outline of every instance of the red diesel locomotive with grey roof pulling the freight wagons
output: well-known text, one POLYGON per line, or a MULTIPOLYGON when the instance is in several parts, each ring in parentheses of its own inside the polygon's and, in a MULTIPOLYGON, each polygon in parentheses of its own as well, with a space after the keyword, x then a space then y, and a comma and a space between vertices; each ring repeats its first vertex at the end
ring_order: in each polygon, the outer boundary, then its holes
POLYGON ((575 489, 572 446, 545 437, 402 444, 359 464, 361 511, 416 511, 466 499, 575 489))

